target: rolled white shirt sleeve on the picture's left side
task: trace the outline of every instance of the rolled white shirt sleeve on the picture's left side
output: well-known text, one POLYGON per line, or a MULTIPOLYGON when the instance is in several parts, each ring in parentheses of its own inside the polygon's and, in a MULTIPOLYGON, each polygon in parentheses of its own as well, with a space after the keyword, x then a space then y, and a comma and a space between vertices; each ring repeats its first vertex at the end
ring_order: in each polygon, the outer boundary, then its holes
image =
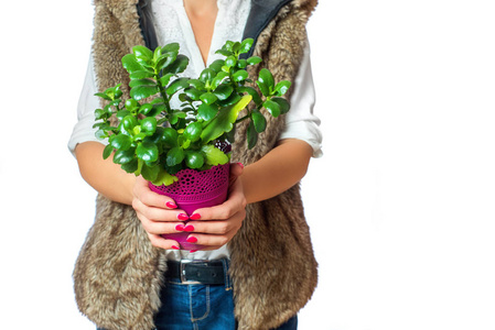
POLYGON ((95 96, 98 92, 95 78, 93 56, 89 56, 86 77, 84 79, 83 90, 80 91, 79 102, 77 105, 77 123, 74 125, 71 139, 68 141, 68 150, 75 156, 75 148, 78 143, 87 141, 96 141, 106 144, 106 141, 95 136, 97 129, 95 124, 95 109, 100 108, 99 99, 95 96))

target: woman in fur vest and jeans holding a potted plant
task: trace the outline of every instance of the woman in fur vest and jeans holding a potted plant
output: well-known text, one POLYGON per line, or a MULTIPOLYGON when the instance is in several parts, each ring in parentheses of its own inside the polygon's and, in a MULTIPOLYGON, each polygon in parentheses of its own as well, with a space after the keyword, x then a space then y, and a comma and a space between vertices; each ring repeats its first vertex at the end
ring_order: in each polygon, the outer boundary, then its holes
POLYGON ((69 142, 99 193, 74 271, 78 307, 104 329, 295 329, 316 285, 298 185, 321 153, 304 29, 316 1, 136 2, 95 1, 93 56, 69 142), (245 37, 255 38, 254 55, 277 80, 294 82, 291 111, 268 119, 252 150, 241 136, 246 128, 237 130, 232 158, 239 164, 227 201, 189 219, 141 177, 103 160, 92 130, 99 105, 90 96, 128 79, 120 58, 136 44, 180 42, 191 59, 184 75, 197 76, 226 40, 245 37), (177 231, 207 248, 181 251, 161 237, 177 231))

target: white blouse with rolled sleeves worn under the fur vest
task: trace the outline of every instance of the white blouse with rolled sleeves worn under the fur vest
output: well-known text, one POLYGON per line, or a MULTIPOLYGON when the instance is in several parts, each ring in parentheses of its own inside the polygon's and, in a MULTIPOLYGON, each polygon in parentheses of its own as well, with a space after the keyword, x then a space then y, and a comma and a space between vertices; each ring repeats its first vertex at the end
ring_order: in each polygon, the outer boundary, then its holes
MULTIPOLYGON (((250 0, 217 0, 218 13, 215 22, 212 44, 207 63, 203 62, 200 47, 196 44, 193 29, 184 9, 183 0, 152 0, 151 10, 153 25, 157 31, 158 42, 161 45, 176 42, 181 45, 180 53, 190 58, 190 65, 181 75, 185 77, 197 77, 211 63, 222 58, 215 54, 222 48, 225 41, 241 41, 244 26, 250 10, 250 0)), ((313 78, 311 74, 310 51, 305 50, 300 70, 292 84, 292 96, 290 99, 291 110, 286 114, 286 128, 282 131, 282 139, 299 139, 309 143, 313 148, 313 157, 322 155, 322 134, 319 129, 320 120, 313 114, 315 94, 313 78)), ((68 148, 74 154, 78 143, 97 141, 95 136, 95 109, 100 108, 99 98, 94 95, 98 91, 96 75, 94 70, 93 56, 89 56, 86 78, 79 97, 77 107, 77 123, 74 127, 68 148)), ((173 100, 172 102, 179 102, 173 100)), ((177 107, 176 105, 171 105, 177 107)), ((228 257, 226 246, 215 251, 168 251, 169 260, 201 258, 213 260, 228 257)))

